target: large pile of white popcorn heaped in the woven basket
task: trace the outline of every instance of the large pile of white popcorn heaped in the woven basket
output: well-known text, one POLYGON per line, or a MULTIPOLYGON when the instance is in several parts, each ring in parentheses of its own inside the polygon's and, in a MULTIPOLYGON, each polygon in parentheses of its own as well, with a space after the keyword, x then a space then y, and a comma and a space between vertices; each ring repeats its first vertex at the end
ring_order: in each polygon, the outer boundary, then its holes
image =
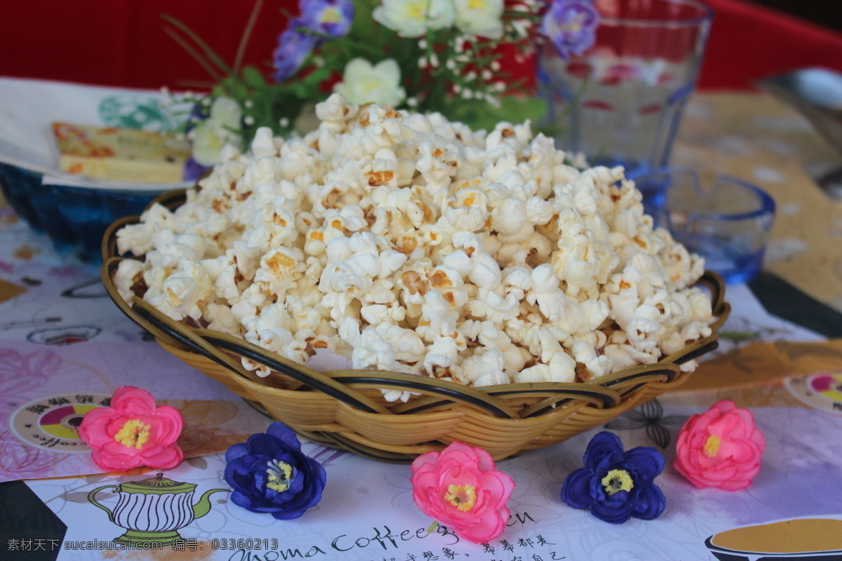
POLYGON ((303 137, 226 146, 184 205, 120 230, 143 257, 120 262, 120 294, 299 363, 328 349, 472 386, 584 381, 710 335, 704 262, 621 167, 572 167, 528 123, 339 94, 316 114, 303 137))

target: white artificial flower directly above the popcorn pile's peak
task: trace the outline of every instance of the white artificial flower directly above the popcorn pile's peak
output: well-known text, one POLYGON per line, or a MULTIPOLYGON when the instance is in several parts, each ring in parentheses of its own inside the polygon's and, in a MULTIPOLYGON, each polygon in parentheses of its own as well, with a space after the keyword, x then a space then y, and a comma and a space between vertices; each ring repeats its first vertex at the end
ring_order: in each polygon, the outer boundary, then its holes
POLYGON ((376 65, 355 58, 345 66, 342 82, 333 89, 344 95, 349 103, 397 105, 407 97, 401 87, 401 69, 391 58, 376 65))

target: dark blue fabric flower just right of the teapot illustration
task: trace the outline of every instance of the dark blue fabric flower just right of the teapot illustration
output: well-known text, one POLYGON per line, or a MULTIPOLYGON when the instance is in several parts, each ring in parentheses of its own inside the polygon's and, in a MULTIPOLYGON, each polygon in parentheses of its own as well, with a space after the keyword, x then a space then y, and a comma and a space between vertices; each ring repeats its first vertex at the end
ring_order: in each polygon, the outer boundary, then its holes
POLYGON ((245 444, 234 444, 225 461, 231 500, 249 511, 291 520, 322 499, 324 468, 301 453, 296 434, 282 423, 272 423, 265 434, 253 434, 245 444))

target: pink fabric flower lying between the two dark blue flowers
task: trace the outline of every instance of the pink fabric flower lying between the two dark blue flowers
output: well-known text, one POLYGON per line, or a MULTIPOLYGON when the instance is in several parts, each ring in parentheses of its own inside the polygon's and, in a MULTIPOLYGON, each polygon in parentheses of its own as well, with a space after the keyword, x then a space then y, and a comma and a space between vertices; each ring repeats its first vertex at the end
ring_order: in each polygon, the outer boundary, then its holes
POLYGON ((453 442, 441 453, 415 458, 412 470, 413 499, 424 514, 471 542, 503 533, 514 481, 488 452, 453 442))

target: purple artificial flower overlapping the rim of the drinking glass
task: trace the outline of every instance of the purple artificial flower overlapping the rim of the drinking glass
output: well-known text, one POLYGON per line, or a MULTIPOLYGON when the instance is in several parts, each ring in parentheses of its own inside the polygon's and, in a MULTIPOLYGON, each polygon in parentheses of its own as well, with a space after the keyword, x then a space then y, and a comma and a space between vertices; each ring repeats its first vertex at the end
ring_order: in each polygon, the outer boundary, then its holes
POLYGON ((594 46, 594 30, 599 24, 600 14, 593 0, 552 0, 541 20, 541 33, 567 60, 571 54, 581 55, 594 46))

